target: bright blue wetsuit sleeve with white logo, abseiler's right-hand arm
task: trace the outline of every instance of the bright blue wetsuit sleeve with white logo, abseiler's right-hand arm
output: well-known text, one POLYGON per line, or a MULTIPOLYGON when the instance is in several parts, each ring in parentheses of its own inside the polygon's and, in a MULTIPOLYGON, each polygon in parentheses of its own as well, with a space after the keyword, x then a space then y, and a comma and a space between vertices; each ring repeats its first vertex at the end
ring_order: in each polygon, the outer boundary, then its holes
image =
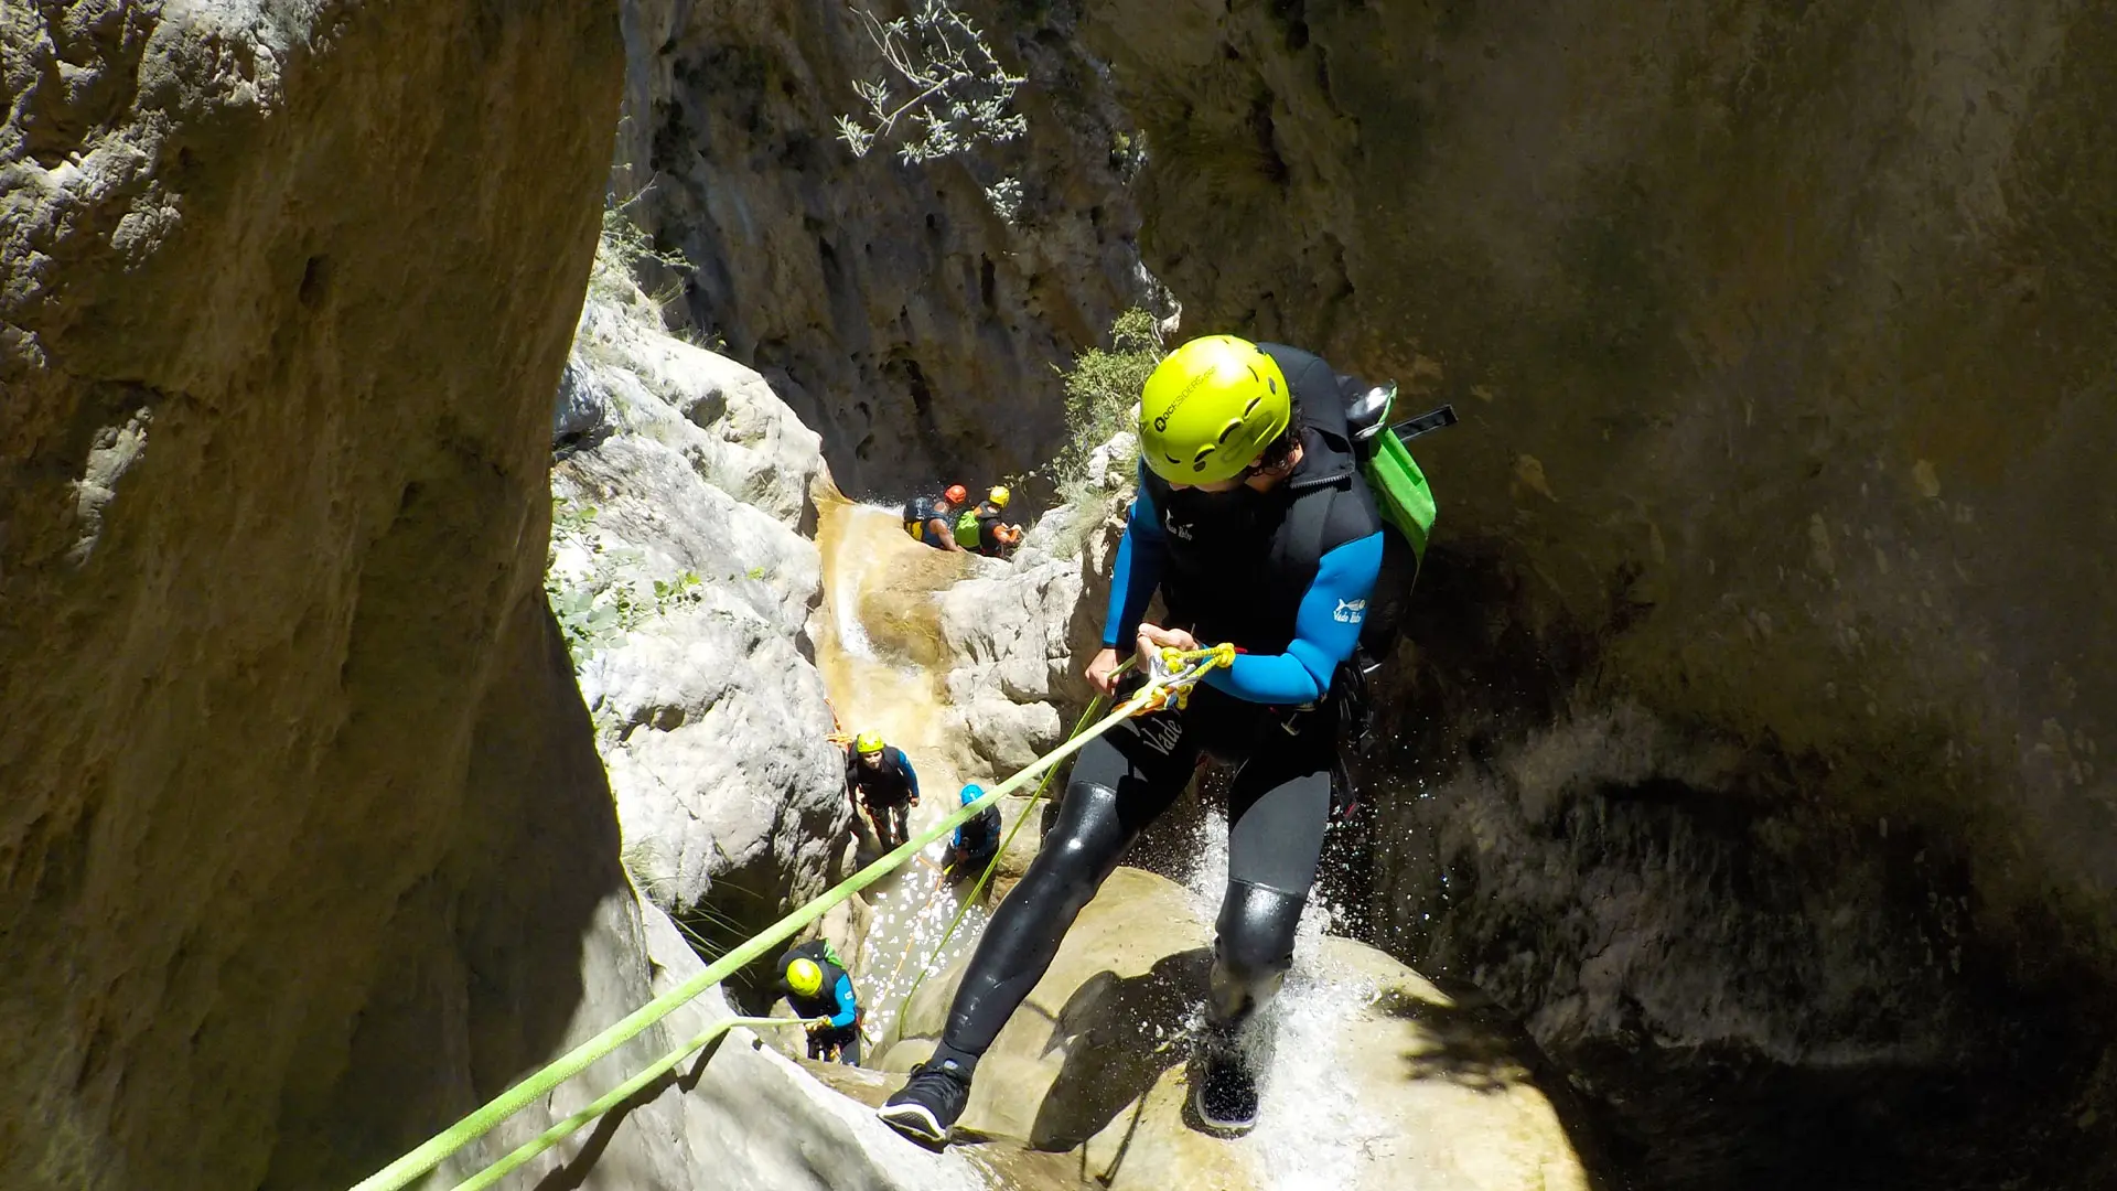
POLYGON ((1251 704, 1300 706, 1321 699, 1329 691, 1329 676, 1359 644, 1359 627, 1380 570, 1380 530, 1329 551, 1293 615, 1287 651, 1236 655, 1232 665, 1209 670, 1207 685, 1251 704))

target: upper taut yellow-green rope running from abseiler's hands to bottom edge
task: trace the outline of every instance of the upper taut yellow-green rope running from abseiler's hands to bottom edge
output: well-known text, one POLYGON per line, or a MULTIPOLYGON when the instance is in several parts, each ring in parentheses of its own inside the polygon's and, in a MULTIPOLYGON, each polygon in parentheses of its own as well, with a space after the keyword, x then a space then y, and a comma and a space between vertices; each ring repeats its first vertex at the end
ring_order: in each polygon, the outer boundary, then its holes
MULTIPOLYGON (((1207 663, 1207 665, 1211 665, 1211 663, 1207 663)), ((889 873, 893 873, 898 869, 898 865, 904 865, 906 860, 910 860, 927 843, 934 843, 942 835, 946 835, 946 833, 955 831, 959 824, 967 822, 972 816, 976 816, 987 805, 999 801, 1006 795, 1012 795, 1020 786, 1029 784, 1031 778, 1035 778, 1035 776, 1039 776, 1039 774, 1056 767, 1061 761, 1065 761, 1073 752, 1080 752, 1090 740, 1094 740, 1094 737, 1103 735, 1105 731, 1109 731, 1111 727, 1116 727, 1118 721, 1124 721, 1133 712, 1145 708, 1152 701, 1152 697, 1160 693, 1160 689, 1164 685, 1166 682, 1150 682, 1137 695, 1133 695, 1130 699, 1126 699, 1124 706, 1120 706, 1118 710, 1114 710, 1107 716, 1103 716, 1103 721, 1097 723, 1094 727, 1090 727, 1086 733, 1082 733, 1082 735, 1078 735, 1078 737, 1061 744, 1058 748, 1046 752, 1044 757, 1037 757, 1035 761, 1031 761, 1029 765, 1025 765, 1020 771, 1016 771, 1012 778, 1008 778, 999 786, 993 786, 991 790, 987 790, 976 801, 959 807, 955 814, 944 816, 938 824, 934 824, 925 833, 917 835, 915 839, 906 839, 904 843, 898 843, 895 850, 883 854, 879 860, 874 860, 866 869, 862 869, 862 871, 853 873, 851 877, 838 882, 836 886, 832 886, 821 896, 809 901, 807 905, 794 909, 792 913, 788 913, 779 922, 766 926, 760 935, 754 935, 747 943, 741 943, 739 947, 735 947, 726 956, 713 960, 699 975, 686 979, 677 988, 671 988, 669 992, 665 992, 665 994, 656 996, 654 1000, 641 1005, 639 1009, 635 1009, 633 1013, 629 1013, 616 1026, 610 1026, 601 1034, 589 1038, 586 1043, 580 1043, 572 1051, 567 1051, 567 1053, 559 1055, 557 1060, 553 1060, 542 1070, 533 1072, 531 1077, 523 1079, 514 1087, 510 1087, 510 1089, 502 1091, 500 1096, 491 1098, 489 1102, 485 1102, 483 1106, 478 1106, 476 1110, 472 1110, 462 1121, 449 1125, 440 1134, 434 1134, 423 1144, 419 1144, 415 1151, 411 1151, 404 1157, 392 1161, 390 1166, 377 1170, 375 1174, 362 1178, 360 1183, 354 1185, 351 1191, 400 1191, 402 1187, 409 1187, 415 1178, 419 1178, 421 1174, 426 1174, 426 1172, 434 1170, 436 1166, 440 1166, 442 1159, 447 1159, 455 1151, 464 1149, 466 1144, 478 1140, 481 1136, 489 1134, 500 1121, 506 1121, 514 1113, 523 1110, 529 1102, 533 1102, 533 1100, 538 1100, 542 1096, 548 1096, 553 1087, 559 1087, 567 1079, 574 1079, 576 1074, 580 1074, 595 1060, 601 1060, 610 1051, 616 1051, 625 1043, 633 1041, 648 1026, 654 1026, 656 1021, 661 1021, 663 1017, 667 1017, 671 1011, 675 1011, 680 1005, 690 1002, 701 992, 713 988, 716 983, 728 979, 730 975, 735 975, 743 966, 747 966, 754 960, 758 960, 760 956, 764 956, 764 952, 768 952, 771 947, 775 947, 775 945, 792 939, 794 932, 798 932, 802 926, 809 926, 817 918, 824 918, 826 913, 830 913, 830 909, 838 907, 840 903, 845 903, 855 892, 860 892, 860 890, 872 886, 874 882, 887 877, 889 873)))

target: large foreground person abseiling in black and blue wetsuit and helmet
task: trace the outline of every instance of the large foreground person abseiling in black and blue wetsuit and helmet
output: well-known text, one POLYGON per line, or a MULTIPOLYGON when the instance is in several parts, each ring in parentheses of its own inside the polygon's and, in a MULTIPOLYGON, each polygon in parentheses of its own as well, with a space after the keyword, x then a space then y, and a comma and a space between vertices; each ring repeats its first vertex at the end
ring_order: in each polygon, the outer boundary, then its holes
POLYGON ((1380 513, 1346 430, 1351 384, 1308 352, 1228 335, 1181 345, 1147 379, 1139 494, 1088 680, 1107 693, 1120 648, 1226 642, 1241 655, 1209 672, 1188 708, 1135 716, 1082 748, 1058 820, 993 913, 934 1057, 879 1110, 906 1136, 946 1140, 978 1055, 1200 754, 1236 771, 1192 1108, 1217 1132, 1255 1121, 1257 1085, 1236 1030, 1293 962, 1332 814, 1334 678, 1382 568, 1380 513), (1156 587, 1169 625, 1141 623, 1156 587))

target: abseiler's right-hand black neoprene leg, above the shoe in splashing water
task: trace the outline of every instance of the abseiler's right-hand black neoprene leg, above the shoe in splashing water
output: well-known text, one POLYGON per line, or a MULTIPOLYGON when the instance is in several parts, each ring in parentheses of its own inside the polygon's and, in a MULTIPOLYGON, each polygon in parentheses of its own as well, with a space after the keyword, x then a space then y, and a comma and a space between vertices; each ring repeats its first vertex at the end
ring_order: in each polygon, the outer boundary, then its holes
POLYGON ((1260 744, 1228 793, 1228 892, 1211 981, 1217 1024, 1249 1017, 1293 966, 1293 928, 1329 826, 1332 735, 1313 729, 1260 744))

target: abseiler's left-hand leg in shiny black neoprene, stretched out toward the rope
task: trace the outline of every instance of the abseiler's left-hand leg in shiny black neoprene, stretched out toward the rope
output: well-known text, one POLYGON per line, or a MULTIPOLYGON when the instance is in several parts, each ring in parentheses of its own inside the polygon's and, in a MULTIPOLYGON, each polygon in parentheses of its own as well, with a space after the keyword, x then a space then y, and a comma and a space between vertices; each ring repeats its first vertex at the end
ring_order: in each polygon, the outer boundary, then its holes
POLYGON ((1128 721, 1080 750, 1058 822, 970 958, 936 1057, 965 1068, 1044 979, 1073 918, 1139 833, 1183 793, 1198 750, 1175 716, 1128 721))

